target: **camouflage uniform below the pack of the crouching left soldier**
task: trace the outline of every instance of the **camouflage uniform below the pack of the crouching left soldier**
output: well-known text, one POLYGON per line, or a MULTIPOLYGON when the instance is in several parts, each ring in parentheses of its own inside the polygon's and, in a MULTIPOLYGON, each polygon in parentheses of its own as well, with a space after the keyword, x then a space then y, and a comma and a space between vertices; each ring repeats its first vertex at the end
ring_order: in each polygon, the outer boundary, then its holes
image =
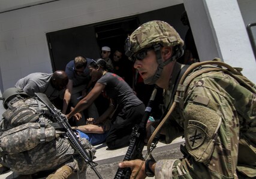
MULTIPOLYGON (((87 152, 94 156, 96 150, 90 149, 89 141, 85 138, 80 141, 87 152)), ((5 155, 1 158, 0 163, 23 175, 57 169, 62 165, 70 166, 73 171, 82 172, 88 166, 73 149, 67 138, 56 138, 56 140, 39 144, 26 152, 5 155)))

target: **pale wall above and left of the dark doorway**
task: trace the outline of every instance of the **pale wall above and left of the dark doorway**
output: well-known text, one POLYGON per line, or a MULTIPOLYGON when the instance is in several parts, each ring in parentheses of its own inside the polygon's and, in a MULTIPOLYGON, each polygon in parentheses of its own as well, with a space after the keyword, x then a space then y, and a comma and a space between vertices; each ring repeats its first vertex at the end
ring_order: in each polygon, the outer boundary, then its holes
MULTIPOLYGON (((32 72, 52 72, 46 33, 181 4, 182 0, 62 0, 0 14, 3 89, 32 72)), ((1 89, 1 88, 0 88, 1 89)))

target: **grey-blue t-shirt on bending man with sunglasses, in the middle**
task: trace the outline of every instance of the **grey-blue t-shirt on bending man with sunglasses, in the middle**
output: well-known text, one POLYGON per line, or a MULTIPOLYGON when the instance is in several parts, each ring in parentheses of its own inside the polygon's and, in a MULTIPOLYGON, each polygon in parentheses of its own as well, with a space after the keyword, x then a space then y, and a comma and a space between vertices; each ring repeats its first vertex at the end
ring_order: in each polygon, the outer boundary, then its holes
POLYGON ((90 77, 89 64, 92 62, 92 59, 86 58, 86 61, 87 61, 87 65, 82 75, 76 74, 74 70, 74 60, 71 60, 66 65, 65 72, 68 75, 68 79, 71 79, 73 81, 73 87, 78 87, 80 85, 88 84, 88 82, 90 81, 91 77, 90 77))

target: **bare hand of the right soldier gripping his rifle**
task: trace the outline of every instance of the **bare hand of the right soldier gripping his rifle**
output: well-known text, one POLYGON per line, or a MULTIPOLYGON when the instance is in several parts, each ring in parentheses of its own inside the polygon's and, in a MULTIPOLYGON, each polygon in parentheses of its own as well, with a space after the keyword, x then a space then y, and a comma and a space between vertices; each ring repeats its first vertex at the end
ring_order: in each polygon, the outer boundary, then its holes
POLYGON ((140 179, 140 178, 146 178, 146 174, 145 174, 145 163, 143 163, 143 165, 140 168, 140 165, 143 161, 136 159, 134 161, 124 161, 124 162, 120 162, 118 163, 119 168, 131 168, 131 179, 132 178, 136 178, 136 179, 140 179))

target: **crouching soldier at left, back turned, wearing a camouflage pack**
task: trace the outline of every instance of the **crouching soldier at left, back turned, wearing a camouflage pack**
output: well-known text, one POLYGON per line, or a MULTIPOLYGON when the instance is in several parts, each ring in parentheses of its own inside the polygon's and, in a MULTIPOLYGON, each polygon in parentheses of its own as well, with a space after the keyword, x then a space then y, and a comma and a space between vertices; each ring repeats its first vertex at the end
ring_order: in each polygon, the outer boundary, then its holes
MULTIPOLYGON (((43 103, 17 88, 4 91, 2 99, 7 110, 0 121, 0 163, 17 172, 17 178, 56 170, 47 179, 65 179, 86 170, 89 164, 74 150, 43 103)), ((85 138, 79 141, 93 158, 95 148, 85 138)))

